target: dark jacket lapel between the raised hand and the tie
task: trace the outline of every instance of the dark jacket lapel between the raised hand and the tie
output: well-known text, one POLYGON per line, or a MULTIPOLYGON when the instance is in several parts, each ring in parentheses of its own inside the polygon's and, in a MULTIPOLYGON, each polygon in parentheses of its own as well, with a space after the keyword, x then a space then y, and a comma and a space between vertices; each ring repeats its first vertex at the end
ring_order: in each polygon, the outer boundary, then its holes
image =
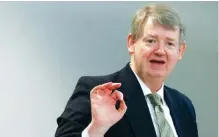
POLYGON ((128 107, 125 118, 128 119, 136 137, 156 137, 151 115, 134 73, 129 64, 120 71, 118 82, 122 83, 120 91, 128 107))

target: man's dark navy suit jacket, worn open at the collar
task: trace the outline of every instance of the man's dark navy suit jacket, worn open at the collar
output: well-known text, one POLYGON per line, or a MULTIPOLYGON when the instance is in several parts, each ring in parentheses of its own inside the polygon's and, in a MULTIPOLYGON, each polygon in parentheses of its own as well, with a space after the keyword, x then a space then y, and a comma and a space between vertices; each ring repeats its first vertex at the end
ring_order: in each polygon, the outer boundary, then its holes
MULTIPOLYGON (((113 125, 105 137, 156 137, 147 102, 129 64, 107 76, 84 76, 76 85, 62 115, 57 119, 56 137, 81 137, 91 121, 90 91, 106 82, 121 82, 128 107, 124 117, 113 125)), ((179 137, 198 137, 196 114, 192 102, 179 91, 164 86, 164 99, 179 137)), ((107 115, 106 115, 107 117, 107 115)))

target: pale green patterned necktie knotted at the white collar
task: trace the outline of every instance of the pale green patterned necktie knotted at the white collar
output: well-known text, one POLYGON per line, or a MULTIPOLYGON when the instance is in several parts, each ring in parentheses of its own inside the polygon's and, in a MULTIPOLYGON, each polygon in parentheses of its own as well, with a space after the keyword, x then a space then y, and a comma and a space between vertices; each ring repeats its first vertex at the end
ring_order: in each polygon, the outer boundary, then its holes
POLYGON ((164 116, 164 112, 161 107, 162 105, 161 97, 157 93, 148 94, 147 97, 149 98, 149 100, 151 101, 151 104, 154 107, 159 131, 160 131, 160 137, 175 137, 170 127, 170 124, 168 123, 168 121, 166 120, 164 116))

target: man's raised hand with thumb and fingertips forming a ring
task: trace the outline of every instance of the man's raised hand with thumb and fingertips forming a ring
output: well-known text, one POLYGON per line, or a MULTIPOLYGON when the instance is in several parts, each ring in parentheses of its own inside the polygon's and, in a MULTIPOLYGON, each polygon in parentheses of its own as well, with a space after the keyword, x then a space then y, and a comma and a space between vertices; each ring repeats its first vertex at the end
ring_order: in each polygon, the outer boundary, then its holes
POLYGON ((109 82, 98 85, 91 90, 92 121, 88 127, 90 137, 103 136, 125 114, 127 106, 123 100, 123 94, 116 90, 120 86, 121 83, 109 82), (115 105, 118 100, 120 105, 116 109, 115 105))

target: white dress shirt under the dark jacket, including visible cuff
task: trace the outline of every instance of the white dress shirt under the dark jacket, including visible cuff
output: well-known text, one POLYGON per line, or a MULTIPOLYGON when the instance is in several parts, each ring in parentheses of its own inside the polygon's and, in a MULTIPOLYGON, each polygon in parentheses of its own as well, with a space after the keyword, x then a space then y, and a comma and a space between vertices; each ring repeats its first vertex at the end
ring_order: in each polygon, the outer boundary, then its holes
MULTIPOLYGON (((133 71, 134 72, 134 71, 133 71)), ((144 96, 146 97, 148 94, 151 94, 151 90, 147 87, 147 85, 137 76, 137 74, 134 72, 140 86, 141 86, 141 89, 144 93, 144 96)), ((157 93, 161 96, 161 99, 163 101, 163 104, 162 104, 162 108, 163 108, 163 111, 164 111, 164 116, 165 118, 167 119, 167 121, 169 122, 172 130, 173 130, 173 133, 175 135, 175 137, 178 137, 177 133, 176 133, 176 130, 175 130, 175 127, 174 127, 174 124, 173 124, 173 120, 171 118, 171 115, 170 115, 170 110, 164 100, 164 84, 162 85, 162 87, 157 91, 157 93)), ((147 101, 147 105, 148 105, 148 108, 149 108, 149 111, 150 111, 150 114, 151 114, 151 119, 152 119, 152 122, 153 122, 153 125, 154 125, 154 128, 155 128, 155 132, 156 132, 156 135, 157 137, 160 137, 160 133, 159 133, 159 128, 158 128, 158 124, 157 124, 157 119, 156 119, 156 114, 155 114, 155 111, 154 111, 154 108, 149 100, 149 98, 146 98, 146 101, 147 101)), ((89 137, 89 134, 88 134, 88 131, 87 131, 87 128, 85 128, 82 132, 82 137, 89 137)))

